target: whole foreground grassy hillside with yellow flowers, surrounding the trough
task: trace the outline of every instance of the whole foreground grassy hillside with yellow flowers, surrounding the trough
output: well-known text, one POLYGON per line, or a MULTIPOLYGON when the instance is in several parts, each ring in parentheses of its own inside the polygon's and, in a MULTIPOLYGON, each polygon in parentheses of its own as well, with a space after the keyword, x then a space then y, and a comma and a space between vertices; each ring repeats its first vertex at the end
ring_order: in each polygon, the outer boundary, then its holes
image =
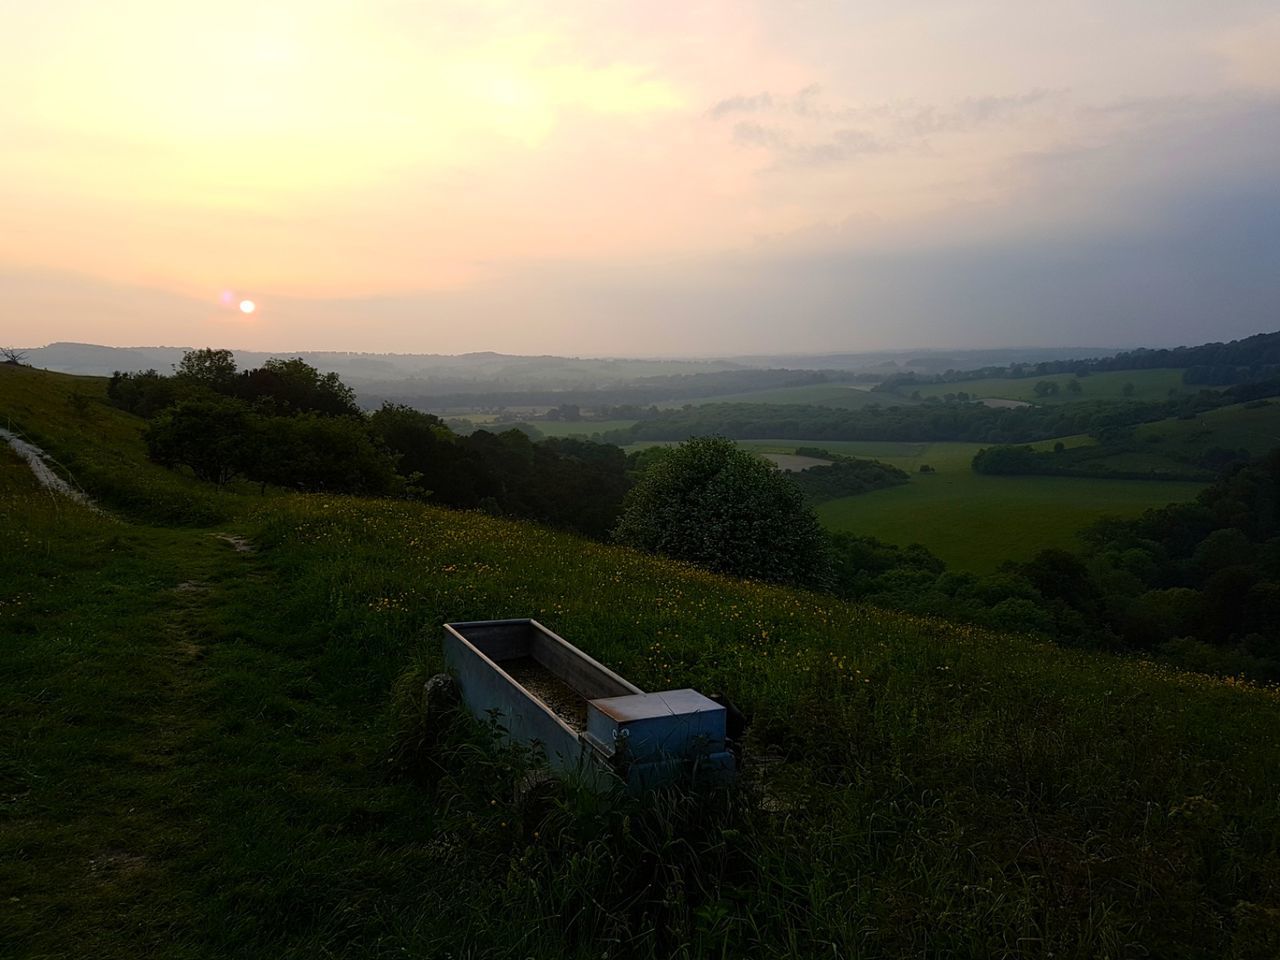
POLYGON ((36 376, 0 417, 109 507, 221 518, 95 515, 0 451, 5 956, 1274 955, 1275 691, 481 515, 206 500, 36 376), (415 714, 440 625, 507 616, 732 696, 764 792, 517 790, 415 714))

